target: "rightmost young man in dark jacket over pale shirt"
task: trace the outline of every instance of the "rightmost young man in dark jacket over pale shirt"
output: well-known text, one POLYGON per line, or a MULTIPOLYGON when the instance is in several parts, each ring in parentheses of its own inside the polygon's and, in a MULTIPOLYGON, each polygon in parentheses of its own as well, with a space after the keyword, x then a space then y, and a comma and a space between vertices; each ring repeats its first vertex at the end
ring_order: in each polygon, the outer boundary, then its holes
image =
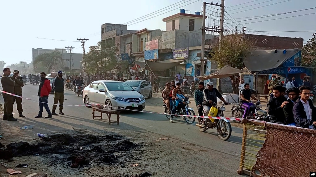
POLYGON ((294 120, 297 127, 315 129, 316 126, 316 107, 309 98, 311 88, 301 86, 299 88, 301 98, 293 106, 294 120))

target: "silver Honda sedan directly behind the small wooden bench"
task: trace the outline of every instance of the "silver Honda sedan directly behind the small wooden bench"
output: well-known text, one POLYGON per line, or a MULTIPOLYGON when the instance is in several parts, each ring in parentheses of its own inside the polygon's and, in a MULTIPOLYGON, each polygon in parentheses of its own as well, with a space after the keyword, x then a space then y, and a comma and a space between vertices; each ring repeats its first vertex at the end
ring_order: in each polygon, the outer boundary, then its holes
POLYGON ((106 109, 142 111, 146 105, 143 95, 120 81, 94 81, 83 89, 82 95, 85 105, 105 104, 106 109))

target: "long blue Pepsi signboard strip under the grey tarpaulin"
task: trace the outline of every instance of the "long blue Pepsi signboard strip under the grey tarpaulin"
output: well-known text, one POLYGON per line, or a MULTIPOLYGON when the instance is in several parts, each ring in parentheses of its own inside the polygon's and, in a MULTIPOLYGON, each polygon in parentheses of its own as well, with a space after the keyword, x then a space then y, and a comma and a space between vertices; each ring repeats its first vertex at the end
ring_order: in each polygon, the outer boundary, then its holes
POLYGON ((299 74, 307 73, 308 69, 304 67, 278 67, 265 71, 258 71, 257 74, 299 74))

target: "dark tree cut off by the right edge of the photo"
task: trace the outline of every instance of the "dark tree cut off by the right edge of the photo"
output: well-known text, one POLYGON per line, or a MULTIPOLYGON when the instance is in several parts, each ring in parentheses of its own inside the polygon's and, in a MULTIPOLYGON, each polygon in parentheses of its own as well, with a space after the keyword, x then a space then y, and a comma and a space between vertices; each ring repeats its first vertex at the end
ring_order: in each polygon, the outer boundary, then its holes
MULTIPOLYGON (((301 66, 316 67, 316 33, 303 46, 301 66)), ((315 70, 315 69, 314 69, 315 70)))

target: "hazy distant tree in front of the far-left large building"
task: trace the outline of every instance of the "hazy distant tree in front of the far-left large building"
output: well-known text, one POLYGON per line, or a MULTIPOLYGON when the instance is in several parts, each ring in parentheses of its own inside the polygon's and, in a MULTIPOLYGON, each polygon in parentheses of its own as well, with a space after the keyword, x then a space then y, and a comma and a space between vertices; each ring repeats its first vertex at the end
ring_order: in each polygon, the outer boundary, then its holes
POLYGON ((61 54, 58 51, 52 53, 43 53, 36 57, 34 60, 34 70, 36 72, 47 71, 50 73, 52 70, 58 71, 63 66, 61 54))

